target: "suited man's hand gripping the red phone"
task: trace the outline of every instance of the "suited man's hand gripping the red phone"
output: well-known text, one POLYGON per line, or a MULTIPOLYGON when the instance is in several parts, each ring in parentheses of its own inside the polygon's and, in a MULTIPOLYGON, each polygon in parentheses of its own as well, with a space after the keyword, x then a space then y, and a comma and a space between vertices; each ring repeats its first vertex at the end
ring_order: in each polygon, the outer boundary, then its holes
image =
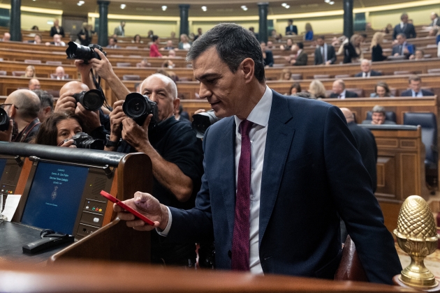
POLYGON ((126 220, 128 227, 133 227, 134 230, 138 231, 150 231, 155 228, 165 230, 168 224, 168 209, 152 195, 138 191, 134 194, 134 198, 122 203, 149 218, 154 223, 154 225, 148 225, 143 220, 136 218, 132 213, 125 211, 121 206, 113 204, 113 210, 117 212, 118 218, 126 220))

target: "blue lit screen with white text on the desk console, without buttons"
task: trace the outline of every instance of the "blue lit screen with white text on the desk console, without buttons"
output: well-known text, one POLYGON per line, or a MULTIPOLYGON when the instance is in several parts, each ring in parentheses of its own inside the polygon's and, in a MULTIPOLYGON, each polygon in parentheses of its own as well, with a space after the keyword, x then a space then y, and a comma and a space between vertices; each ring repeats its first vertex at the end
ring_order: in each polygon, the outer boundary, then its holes
POLYGON ((38 163, 22 223, 73 234, 89 168, 38 163))

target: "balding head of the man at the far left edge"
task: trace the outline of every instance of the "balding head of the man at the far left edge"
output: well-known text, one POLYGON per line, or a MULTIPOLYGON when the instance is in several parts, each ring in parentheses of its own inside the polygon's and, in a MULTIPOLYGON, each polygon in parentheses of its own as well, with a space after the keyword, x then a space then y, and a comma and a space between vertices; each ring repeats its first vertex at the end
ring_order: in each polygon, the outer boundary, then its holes
POLYGON ((13 91, 5 100, 5 104, 13 104, 15 113, 10 114, 14 120, 32 121, 38 117, 40 111, 40 98, 29 89, 13 91))

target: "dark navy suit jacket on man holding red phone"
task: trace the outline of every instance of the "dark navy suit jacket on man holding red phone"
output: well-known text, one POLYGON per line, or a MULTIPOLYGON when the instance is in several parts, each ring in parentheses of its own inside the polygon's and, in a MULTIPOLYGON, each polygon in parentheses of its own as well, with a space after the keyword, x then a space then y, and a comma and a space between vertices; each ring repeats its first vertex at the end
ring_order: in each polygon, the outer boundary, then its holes
MULTIPOLYGON (((273 92, 261 183, 259 247, 265 273, 333 278, 339 264, 339 216, 370 281, 400 272, 372 181, 342 112, 318 100, 273 92)), ((235 212, 235 120, 208 128, 196 208, 170 208, 166 241, 214 237, 218 269, 230 269, 235 212)))

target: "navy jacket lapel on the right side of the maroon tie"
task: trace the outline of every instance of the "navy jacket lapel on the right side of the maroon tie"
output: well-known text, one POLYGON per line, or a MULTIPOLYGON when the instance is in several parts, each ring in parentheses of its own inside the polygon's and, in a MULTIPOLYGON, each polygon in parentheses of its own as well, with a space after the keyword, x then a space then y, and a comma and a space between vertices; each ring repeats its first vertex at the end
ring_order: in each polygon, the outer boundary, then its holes
POLYGON ((277 200, 281 177, 295 129, 287 125, 292 119, 287 99, 273 92, 264 153, 260 197, 259 245, 277 200))

